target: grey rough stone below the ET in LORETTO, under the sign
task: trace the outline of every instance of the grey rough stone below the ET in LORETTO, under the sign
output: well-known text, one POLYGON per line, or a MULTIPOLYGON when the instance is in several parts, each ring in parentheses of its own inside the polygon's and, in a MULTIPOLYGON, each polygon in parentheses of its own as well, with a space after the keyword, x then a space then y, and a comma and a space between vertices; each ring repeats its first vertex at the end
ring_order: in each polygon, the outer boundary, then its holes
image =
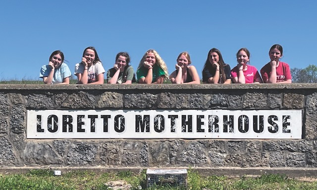
POLYGON ((96 164, 96 153, 98 147, 90 143, 72 143, 67 153, 67 165, 94 165, 96 164))

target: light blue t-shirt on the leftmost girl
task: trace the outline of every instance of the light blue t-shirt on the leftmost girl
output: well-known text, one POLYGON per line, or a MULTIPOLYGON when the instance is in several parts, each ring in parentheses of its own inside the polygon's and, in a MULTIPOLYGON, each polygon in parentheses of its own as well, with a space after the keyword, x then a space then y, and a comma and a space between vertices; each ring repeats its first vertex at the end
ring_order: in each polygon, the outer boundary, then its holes
MULTIPOLYGON (((49 65, 43 65, 40 71, 40 78, 48 77, 52 68, 49 65)), ((69 70, 69 67, 66 63, 61 63, 61 65, 54 70, 53 75, 53 84, 62 83, 64 78, 70 77, 71 72, 69 70)))

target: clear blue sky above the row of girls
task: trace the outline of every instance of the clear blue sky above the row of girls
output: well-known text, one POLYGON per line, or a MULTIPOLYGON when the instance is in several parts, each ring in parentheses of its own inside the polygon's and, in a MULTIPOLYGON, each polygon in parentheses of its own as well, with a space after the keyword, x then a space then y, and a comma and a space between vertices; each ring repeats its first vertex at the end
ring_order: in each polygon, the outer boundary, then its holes
POLYGON ((54 50, 74 71, 83 50, 97 49, 105 69, 118 52, 137 68, 155 49, 169 73, 179 53, 189 52, 200 77, 211 48, 233 68, 246 47, 258 70, 273 44, 283 46, 291 68, 315 64, 316 0, 8 0, 0 6, 0 80, 38 80, 54 50))

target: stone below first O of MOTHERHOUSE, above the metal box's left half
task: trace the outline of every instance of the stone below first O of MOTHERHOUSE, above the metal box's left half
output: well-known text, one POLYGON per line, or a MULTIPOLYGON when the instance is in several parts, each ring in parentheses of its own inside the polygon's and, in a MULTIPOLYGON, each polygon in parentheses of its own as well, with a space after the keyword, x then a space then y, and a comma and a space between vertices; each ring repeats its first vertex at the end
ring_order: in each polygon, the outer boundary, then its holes
POLYGON ((151 164, 155 166, 169 165, 169 143, 153 142, 149 144, 149 150, 152 157, 151 164))

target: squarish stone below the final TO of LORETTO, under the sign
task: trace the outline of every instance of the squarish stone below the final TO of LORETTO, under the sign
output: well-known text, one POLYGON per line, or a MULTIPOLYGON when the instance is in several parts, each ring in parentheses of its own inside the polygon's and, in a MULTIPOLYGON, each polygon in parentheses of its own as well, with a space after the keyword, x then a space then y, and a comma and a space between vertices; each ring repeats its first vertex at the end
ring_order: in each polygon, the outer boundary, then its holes
POLYGON ((121 164, 122 141, 110 141, 101 144, 100 159, 103 165, 119 166, 121 164))

